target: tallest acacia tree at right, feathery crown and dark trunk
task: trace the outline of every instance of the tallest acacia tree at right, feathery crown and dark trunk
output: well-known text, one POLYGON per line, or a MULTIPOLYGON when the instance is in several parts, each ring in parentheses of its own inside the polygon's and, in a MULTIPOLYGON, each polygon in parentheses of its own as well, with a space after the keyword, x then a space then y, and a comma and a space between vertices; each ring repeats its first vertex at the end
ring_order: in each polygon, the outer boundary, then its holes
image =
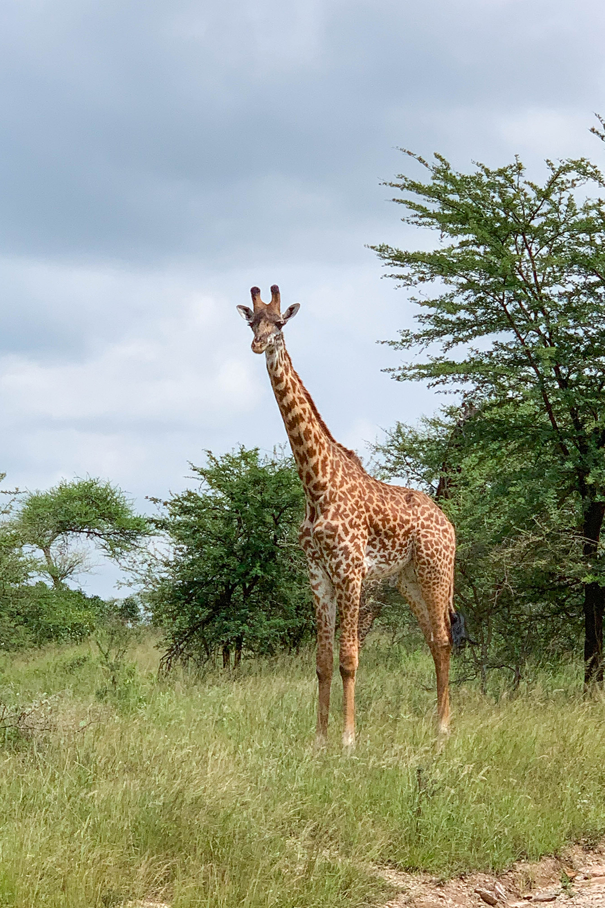
POLYGON ((426 182, 399 175, 403 221, 437 232, 426 252, 373 247, 420 307, 416 327, 387 341, 428 350, 396 380, 464 390, 481 409, 478 445, 548 452, 544 481, 577 500, 582 541, 586 682, 602 680, 605 576, 605 186, 586 159, 546 162, 543 184, 519 161, 458 173, 407 152, 426 182), (428 292, 426 292, 428 291, 428 292), (434 350, 437 352, 434 352, 434 350))

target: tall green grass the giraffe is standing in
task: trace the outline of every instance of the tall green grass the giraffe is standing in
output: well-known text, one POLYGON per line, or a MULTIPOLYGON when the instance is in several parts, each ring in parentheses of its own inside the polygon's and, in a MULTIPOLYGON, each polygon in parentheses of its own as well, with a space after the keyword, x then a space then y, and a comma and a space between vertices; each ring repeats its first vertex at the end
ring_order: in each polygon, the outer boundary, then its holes
POLYGON ((5 702, 37 704, 0 735, 0 904, 365 905, 376 864, 499 869, 605 832, 605 701, 579 666, 454 687, 438 752, 430 657, 370 644, 344 756, 338 679, 313 748, 312 653, 168 680, 151 639, 132 659, 109 699, 87 646, 0 665, 5 702))

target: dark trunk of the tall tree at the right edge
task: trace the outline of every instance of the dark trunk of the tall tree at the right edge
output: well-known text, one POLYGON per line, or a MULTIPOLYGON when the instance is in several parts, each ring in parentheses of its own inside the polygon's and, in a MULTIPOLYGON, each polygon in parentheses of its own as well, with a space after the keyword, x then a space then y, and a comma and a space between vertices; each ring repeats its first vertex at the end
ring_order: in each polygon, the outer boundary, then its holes
MULTIPOLYGON (((605 503, 591 501, 584 510, 584 558, 592 568, 592 559, 599 547, 600 528, 605 503)), ((605 587, 593 581, 584 587, 584 684, 603 680, 603 613, 605 587)))

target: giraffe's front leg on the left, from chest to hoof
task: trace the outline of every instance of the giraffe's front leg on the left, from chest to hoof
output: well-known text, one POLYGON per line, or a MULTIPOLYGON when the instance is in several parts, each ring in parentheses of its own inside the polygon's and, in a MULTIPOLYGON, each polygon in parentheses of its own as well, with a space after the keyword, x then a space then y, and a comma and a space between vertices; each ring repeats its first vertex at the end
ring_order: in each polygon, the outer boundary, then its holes
POLYGON ((308 558, 308 576, 315 600, 317 619, 317 730, 316 744, 326 745, 327 717, 330 711, 330 687, 334 671, 334 627, 336 599, 326 571, 314 558, 308 558))

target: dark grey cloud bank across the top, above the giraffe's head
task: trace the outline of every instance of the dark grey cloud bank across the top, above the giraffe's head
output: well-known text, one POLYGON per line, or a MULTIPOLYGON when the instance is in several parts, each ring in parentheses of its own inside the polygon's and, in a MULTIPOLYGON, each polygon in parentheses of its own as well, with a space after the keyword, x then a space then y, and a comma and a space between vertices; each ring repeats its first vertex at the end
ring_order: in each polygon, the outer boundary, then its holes
POLYGON ((393 146, 455 153, 427 108, 598 106, 587 0, 573 16, 563 0, 141 9, 5 5, 6 251, 226 263, 269 243, 350 261, 350 222, 387 220, 393 146))

